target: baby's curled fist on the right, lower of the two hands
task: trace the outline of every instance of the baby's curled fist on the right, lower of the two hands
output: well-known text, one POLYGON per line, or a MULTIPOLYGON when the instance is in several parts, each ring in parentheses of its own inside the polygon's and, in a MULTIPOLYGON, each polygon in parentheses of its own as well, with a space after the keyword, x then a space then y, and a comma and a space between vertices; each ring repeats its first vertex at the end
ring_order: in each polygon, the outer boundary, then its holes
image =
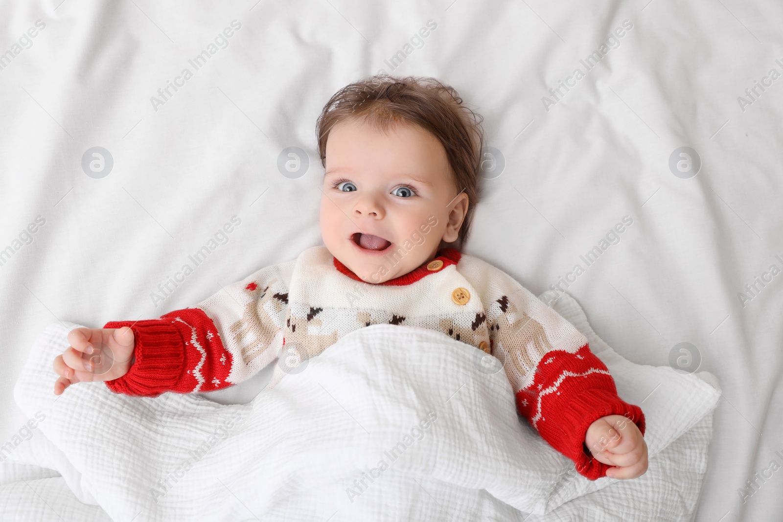
POLYGON ((647 471, 647 443, 627 417, 597 419, 587 428, 585 445, 598 462, 615 466, 607 470, 607 477, 636 478, 647 471))

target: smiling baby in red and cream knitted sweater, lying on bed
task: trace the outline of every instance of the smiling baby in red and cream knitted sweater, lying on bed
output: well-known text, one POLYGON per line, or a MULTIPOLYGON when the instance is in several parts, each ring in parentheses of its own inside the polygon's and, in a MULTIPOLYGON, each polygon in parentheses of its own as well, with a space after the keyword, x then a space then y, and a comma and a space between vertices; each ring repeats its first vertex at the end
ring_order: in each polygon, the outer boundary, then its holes
POLYGON ((379 323, 435 329, 500 359, 518 412, 590 480, 647 470, 644 414, 618 397, 572 324, 511 277, 460 254, 478 201, 481 117, 431 78, 369 77, 317 124, 324 247, 262 268, 195 308, 78 328, 55 394, 215 391, 315 357, 379 323), (456 247, 456 248, 455 248, 456 247))

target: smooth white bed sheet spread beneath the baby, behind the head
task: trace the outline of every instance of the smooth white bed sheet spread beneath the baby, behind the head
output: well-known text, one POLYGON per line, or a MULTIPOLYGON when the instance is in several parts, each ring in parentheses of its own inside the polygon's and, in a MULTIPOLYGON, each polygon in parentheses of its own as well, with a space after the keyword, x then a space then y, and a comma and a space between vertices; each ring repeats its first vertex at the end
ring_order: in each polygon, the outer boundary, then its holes
POLYGON ((383 69, 453 85, 503 156, 467 253, 534 293, 583 265, 561 288, 608 344, 662 365, 691 343, 720 380, 695 520, 774 520, 783 275, 755 278, 783 268, 783 78, 770 77, 783 73, 781 24, 778 4, 738 0, 3 3, 0 250, 13 253, 0 265, 0 441, 27 421, 13 384, 52 319, 157 317, 318 244, 316 117, 338 88, 383 69), (194 70, 189 59, 233 20, 226 49, 194 70), (423 45, 406 48, 428 20, 423 45), (619 46, 586 71, 580 60, 624 20, 619 46), (193 77, 153 104, 186 67, 193 77), (569 79, 577 67, 585 76, 569 79), (555 99, 559 81, 573 86, 555 99), (94 146, 114 160, 103 178, 81 166, 94 146), (277 167, 290 146, 309 157, 299 178, 277 167), (682 146, 701 157, 694 177, 669 169, 682 146), (157 302, 233 216, 228 241, 157 302), (586 266, 580 255, 624 216, 619 243, 586 266))

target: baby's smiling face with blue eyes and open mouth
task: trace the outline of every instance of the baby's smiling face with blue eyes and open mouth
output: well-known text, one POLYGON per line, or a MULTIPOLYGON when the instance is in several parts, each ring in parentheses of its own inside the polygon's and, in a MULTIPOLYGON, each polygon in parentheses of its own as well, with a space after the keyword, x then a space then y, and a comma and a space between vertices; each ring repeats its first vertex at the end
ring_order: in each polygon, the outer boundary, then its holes
POLYGON ((404 275, 457 239, 467 196, 454 187, 446 149, 410 124, 387 132, 345 121, 329 134, 321 236, 367 283, 404 275))

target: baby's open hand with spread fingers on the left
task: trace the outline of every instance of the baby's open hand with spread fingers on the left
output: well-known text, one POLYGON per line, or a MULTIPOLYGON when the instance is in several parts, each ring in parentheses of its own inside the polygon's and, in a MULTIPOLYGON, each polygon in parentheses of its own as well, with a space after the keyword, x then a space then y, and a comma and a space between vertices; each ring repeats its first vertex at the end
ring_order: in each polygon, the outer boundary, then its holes
POLYGON ((128 326, 74 328, 68 342, 70 347, 54 360, 54 371, 60 374, 54 383, 55 395, 73 383, 117 379, 131 367, 134 336, 128 326))

